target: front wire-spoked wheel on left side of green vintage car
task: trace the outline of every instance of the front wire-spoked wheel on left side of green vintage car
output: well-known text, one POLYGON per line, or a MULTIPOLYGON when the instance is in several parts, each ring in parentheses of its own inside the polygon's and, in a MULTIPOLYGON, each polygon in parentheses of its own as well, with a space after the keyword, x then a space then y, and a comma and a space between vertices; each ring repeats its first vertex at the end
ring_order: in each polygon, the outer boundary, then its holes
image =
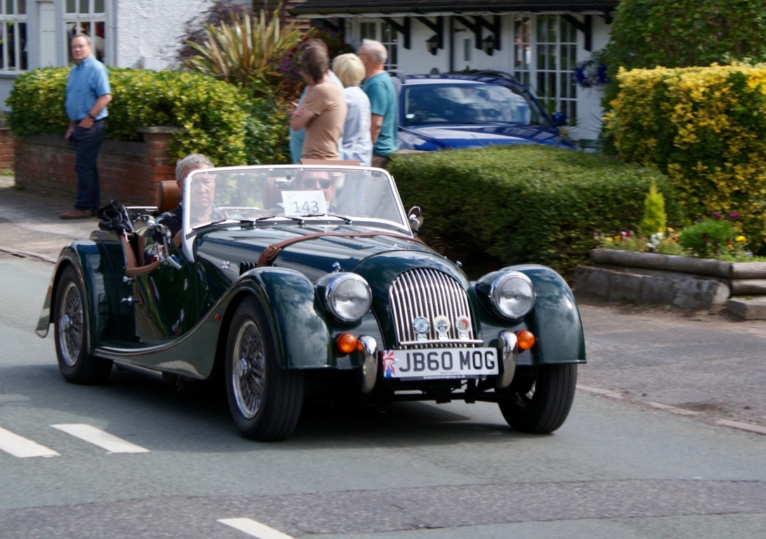
POLYGON ((281 440, 295 429, 303 406, 303 373, 277 365, 269 324, 254 298, 243 301, 231 320, 226 393, 234 423, 247 438, 281 440))

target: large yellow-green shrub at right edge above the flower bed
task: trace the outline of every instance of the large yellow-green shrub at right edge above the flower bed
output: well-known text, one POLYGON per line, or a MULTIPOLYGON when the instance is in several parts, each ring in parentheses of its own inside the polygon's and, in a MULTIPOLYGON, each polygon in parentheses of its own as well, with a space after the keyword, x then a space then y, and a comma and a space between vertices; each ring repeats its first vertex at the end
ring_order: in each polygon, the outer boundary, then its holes
POLYGON ((766 240, 766 66, 620 71, 607 130, 620 159, 669 176, 690 219, 738 213, 766 240))

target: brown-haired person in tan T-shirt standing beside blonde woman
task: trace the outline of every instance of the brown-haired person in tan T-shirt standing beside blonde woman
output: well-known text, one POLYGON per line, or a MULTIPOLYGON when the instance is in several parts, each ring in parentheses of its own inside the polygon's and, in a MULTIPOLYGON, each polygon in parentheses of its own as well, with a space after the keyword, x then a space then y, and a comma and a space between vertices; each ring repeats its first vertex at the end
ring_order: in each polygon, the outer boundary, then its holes
POLYGON ((343 134, 346 104, 343 90, 330 80, 326 48, 308 47, 300 53, 300 71, 306 96, 293 113, 290 127, 306 130, 303 159, 338 159, 338 140, 343 134))

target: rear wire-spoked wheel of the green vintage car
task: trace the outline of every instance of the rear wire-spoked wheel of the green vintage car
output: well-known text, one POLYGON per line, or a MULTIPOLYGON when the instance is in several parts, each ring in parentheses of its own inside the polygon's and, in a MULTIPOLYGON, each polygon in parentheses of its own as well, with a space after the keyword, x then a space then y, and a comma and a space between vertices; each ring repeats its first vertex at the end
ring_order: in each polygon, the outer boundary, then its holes
POLYGON ((88 353, 88 326, 83 286, 71 266, 61 274, 56 288, 54 336, 61 375, 74 383, 104 383, 112 371, 112 361, 88 353))

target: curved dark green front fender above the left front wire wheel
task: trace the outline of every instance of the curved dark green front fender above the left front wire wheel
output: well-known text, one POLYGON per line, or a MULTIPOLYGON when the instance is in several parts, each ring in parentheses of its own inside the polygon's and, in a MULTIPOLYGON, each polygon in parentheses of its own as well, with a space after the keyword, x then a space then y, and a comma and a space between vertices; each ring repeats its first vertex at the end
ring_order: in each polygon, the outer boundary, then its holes
POLYGON ((256 268, 242 274, 238 289, 248 289, 266 312, 285 369, 306 369, 332 364, 329 322, 314 284, 298 271, 256 268))

